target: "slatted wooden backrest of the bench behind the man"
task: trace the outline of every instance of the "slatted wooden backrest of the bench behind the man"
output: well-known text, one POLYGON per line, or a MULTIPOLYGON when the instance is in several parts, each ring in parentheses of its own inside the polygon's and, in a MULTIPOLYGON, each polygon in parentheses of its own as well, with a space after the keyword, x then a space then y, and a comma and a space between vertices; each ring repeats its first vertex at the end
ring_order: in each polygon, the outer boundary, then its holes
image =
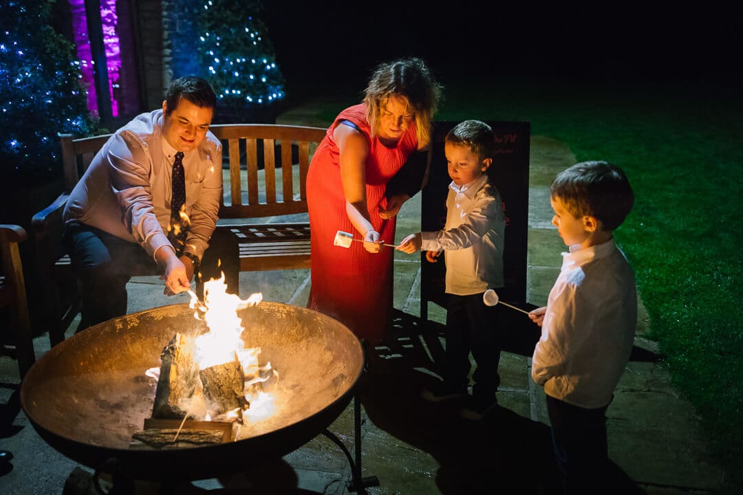
MULTIPOLYGON (((324 128, 218 124, 212 125, 210 131, 221 140, 223 167, 230 170, 229 183, 224 183, 220 218, 307 212, 307 171, 312 153, 325 137, 324 128)), ((77 140, 71 134, 59 137, 65 191, 69 192, 111 134, 77 140)))

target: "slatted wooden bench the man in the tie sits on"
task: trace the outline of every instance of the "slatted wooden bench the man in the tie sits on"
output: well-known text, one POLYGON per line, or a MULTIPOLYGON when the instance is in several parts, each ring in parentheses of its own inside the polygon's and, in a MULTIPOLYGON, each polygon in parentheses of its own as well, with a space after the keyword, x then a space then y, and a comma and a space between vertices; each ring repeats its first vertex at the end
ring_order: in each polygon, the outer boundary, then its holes
MULTIPOLYGON (((210 127, 223 144, 224 193, 217 229, 239 245, 240 271, 308 269, 310 229, 306 179, 325 128, 299 125, 220 124, 210 127), (280 223, 281 220, 286 220, 280 223)), ((34 215, 36 263, 50 305, 52 345, 80 311, 79 286, 62 248, 62 211, 77 181, 111 134, 73 139, 60 135, 65 193, 34 215)), ((137 274, 134 274, 137 275, 137 274)), ((151 274, 142 274, 151 275, 151 274)))

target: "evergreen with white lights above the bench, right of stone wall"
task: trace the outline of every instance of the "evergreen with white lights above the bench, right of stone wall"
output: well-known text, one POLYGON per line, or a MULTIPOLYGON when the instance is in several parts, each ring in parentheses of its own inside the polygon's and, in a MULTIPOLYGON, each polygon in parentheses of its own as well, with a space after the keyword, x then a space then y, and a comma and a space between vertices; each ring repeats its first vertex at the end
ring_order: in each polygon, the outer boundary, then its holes
POLYGON ((198 16, 202 76, 219 98, 220 111, 261 108, 284 96, 284 78, 259 19, 260 0, 207 0, 198 16))

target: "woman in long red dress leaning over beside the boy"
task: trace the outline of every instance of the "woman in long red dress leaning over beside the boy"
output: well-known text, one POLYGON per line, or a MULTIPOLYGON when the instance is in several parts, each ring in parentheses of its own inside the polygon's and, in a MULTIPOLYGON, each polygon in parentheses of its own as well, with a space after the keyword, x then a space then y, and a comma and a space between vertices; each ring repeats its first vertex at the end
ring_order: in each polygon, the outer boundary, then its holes
POLYGON ((377 67, 360 105, 341 111, 320 142, 307 176, 311 236, 308 308, 378 344, 392 317, 395 215, 406 193, 386 186, 415 151, 429 145, 441 87, 421 59, 377 67), (363 243, 334 246, 338 231, 363 243))

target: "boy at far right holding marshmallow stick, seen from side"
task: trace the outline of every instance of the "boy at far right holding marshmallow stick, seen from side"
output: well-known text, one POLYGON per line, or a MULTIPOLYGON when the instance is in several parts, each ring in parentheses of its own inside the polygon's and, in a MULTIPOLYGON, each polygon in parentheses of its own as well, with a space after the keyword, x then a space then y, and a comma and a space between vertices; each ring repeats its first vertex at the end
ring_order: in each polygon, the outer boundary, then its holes
POLYGON ((552 223, 569 253, 547 306, 531 376, 545 387, 554 453, 566 494, 606 493, 606 408, 632 351, 637 324, 635 274, 612 232, 632 209, 624 172, 577 163, 551 185, 552 223))

